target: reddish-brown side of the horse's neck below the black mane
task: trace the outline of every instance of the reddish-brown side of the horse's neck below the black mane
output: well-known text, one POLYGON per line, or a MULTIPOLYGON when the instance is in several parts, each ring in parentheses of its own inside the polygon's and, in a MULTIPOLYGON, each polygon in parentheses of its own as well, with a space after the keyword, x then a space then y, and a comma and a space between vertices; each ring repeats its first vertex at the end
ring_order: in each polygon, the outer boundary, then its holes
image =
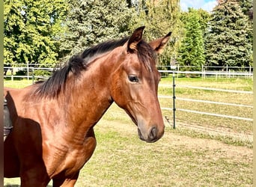
POLYGON ((92 63, 70 91, 67 118, 71 123, 94 126, 113 102, 108 74, 112 70, 108 68, 115 68, 110 64, 115 62, 99 58, 92 63))

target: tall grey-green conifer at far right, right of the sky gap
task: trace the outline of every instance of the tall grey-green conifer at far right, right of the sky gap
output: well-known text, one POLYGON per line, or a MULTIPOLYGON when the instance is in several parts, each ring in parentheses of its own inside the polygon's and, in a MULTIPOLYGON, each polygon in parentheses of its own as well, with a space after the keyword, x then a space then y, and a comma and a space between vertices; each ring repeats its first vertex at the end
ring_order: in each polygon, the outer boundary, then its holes
POLYGON ((252 28, 237 1, 219 3, 205 37, 208 65, 246 67, 252 61, 252 28))

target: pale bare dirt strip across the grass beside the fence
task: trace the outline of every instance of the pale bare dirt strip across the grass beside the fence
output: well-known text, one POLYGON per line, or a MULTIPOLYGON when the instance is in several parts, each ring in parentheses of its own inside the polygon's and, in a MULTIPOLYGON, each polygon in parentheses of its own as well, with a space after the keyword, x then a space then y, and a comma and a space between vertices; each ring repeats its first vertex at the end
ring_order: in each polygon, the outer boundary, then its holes
MULTIPOLYGON (((100 123, 97 126, 101 126, 104 129, 116 129, 118 132, 124 133, 124 135, 130 134, 130 135, 137 135, 137 127, 132 124, 124 124, 124 123, 118 123, 113 122, 109 124, 106 120, 101 120, 100 123)), ((165 124, 165 135, 160 139, 159 141, 161 144, 172 144, 174 147, 186 147, 191 150, 201 150, 201 149, 207 149, 207 150, 213 150, 216 151, 216 155, 218 152, 225 152, 225 156, 228 156, 230 158, 234 157, 248 157, 252 159, 253 156, 253 150, 248 147, 242 147, 242 146, 234 146, 230 144, 222 143, 221 141, 216 141, 212 139, 207 138, 192 138, 186 135, 177 135, 171 132, 171 127, 168 124, 165 124)), ((181 125, 183 128, 191 128, 191 129, 197 129, 198 131, 204 131, 208 133, 213 134, 220 134, 220 135, 230 135, 237 138, 246 137, 250 140, 253 139, 252 135, 243 135, 240 133, 231 133, 227 132, 224 129, 213 129, 213 128, 207 128, 203 126, 192 126, 192 125, 181 125)), ((96 129, 97 130, 97 129, 96 129)))

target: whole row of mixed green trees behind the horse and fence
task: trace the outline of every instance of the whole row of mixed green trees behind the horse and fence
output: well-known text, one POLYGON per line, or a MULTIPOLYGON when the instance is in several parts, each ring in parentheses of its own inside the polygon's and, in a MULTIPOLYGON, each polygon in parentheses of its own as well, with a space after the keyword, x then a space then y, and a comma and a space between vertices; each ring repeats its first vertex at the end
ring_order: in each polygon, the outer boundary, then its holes
POLYGON ((252 64, 252 0, 218 2, 208 13, 179 0, 4 0, 4 63, 53 65, 145 25, 147 41, 172 32, 160 65, 252 64))

